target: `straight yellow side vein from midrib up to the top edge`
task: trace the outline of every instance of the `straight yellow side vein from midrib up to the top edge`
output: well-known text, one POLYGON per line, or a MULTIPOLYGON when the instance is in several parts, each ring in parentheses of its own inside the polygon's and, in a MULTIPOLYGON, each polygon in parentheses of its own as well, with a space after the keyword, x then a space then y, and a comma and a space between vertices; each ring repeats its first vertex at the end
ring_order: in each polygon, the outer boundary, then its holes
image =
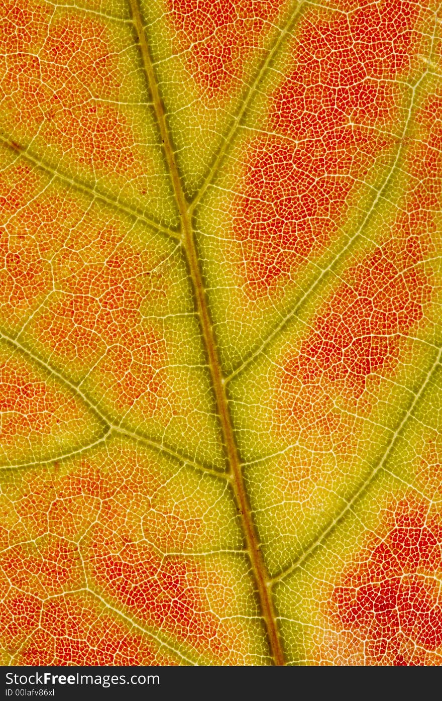
POLYGON ((246 113, 247 109, 249 108, 249 105, 251 103, 251 100, 253 99, 256 89, 258 88, 259 83, 263 80, 265 77, 265 74, 268 71, 268 68, 270 67, 270 63, 272 62, 273 58, 277 54, 282 42, 284 39, 286 39, 287 34, 291 32, 291 29, 293 29, 293 25, 296 23, 296 20, 298 19, 298 15, 300 14, 301 7, 303 6, 303 0, 300 0, 296 4, 296 9, 293 11, 293 14, 290 16, 289 21, 287 22, 287 25, 285 28, 283 28, 277 38, 277 41, 275 44, 272 46, 272 49, 269 51, 265 61, 263 62, 263 65, 261 66, 261 70, 258 71, 258 73, 255 76, 255 79, 253 83, 251 83, 251 86, 249 90, 247 91, 247 95, 245 95, 244 100, 242 102, 242 105, 240 107, 240 111, 237 113, 235 116, 235 119, 230 126, 230 130, 228 130, 227 135, 225 139, 223 140, 221 144, 221 148, 219 149, 218 153, 216 154, 216 158, 214 162, 212 163, 212 166, 207 173, 207 176, 205 177, 204 182, 202 183, 202 186, 200 187, 198 193, 196 193, 195 198, 193 198, 193 201, 189 207, 189 212, 192 212, 196 205, 198 205, 198 202, 202 198, 202 195, 205 193, 207 190, 207 187, 209 184, 212 182, 212 178, 214 177, 216 170, 220 167, 224 156, 226 155, 226 152, 228 150, 228 147, 230 146, 233 137, 235 136, 235 132, 237 131, 237 128, 239 127, 241 120, 246 113))

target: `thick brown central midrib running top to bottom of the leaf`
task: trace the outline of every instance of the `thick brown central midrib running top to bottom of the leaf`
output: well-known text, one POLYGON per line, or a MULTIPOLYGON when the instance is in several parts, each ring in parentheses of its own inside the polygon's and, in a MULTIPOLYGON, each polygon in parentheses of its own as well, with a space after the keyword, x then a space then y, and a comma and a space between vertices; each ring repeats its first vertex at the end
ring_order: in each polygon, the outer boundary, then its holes
POLYGON ((181 178, 179 176, 177 164, 175 163, 174 159, 172 142, 170 139, 169 132, 167 130, 165 109, 158 90, 156 76, 153 72, 151 56, 146 41, 146 35, 144 34, 143 21, 141 18, 138 0, 129 0, 129 4, 132 12, 132 20, 134 22, 134 27, 137 31, 139 39, 139 46, 141 50, 141 57, 143 60, 144 70, 146 72, 146 76, 149 82, 149 88, 151 90, 153 107, 155 109, 156 118, 158 121, 158 128, 160 129, 161 139, 163 140, 167 166, 170 170, 170 176, 172 178, 172 185, 174 188, 175 198, 177 200, 177 207, 179 209, 179 214, 181 217, 183 245, 184 250, 187 254, 188 266, 193 280, 196 303, 198 313, 200 315, 202 337, 205 344, 207 358, 209 360, 209 370, 212 376, 216 406, 221 421, 223 439, 226 443, 226 452, 230 467, 230 474, 232 476, 233 492, 235 494, 237 509, 242 519, 242 527, 244 531, 244 537, 247 543, 247 550, 249 552, 251 568, 254 573, 256 588, 258 590, 258 597, 261 604, 261 611, 263 613, 263 618, 265 620, 265 625, 267 628, 270 651, 272 653, 275 665, 284 665, 284 655, 282 653, 282 646, 279 640, 275 608, 273 606, 273 601, 270 593, 270 576, 263 561, 263 556, 261 554, 260 546, 258 543, 256 529, 254 526, 254 522, 251 518, 249 499, 247 497, 244 485, 244 478, 242 476, 242 471, 240 467, 240 459, 237 453, 235 437, 233 435, 233 425, 230 416, 230 411, 228 408, 225 382, 223 374, 221 372, 218 353, 216 350, 216 342, 214 338, 212 322, 210 320, 209 310, 207 308, 205 287, 202 281, 202 272, 198 260, 198 252, 195 244, 195 238, 193 236, 191 217, 188 213, 186 198, 184 196, 184 190, 181 184, 181 178))

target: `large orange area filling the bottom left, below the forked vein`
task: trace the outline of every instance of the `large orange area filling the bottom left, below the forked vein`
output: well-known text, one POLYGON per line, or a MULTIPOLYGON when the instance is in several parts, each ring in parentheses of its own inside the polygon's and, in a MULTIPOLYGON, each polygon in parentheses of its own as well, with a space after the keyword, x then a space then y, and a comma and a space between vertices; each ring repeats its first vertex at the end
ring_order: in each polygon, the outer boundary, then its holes
POLYGON ((18 473, 4 485, 0 632, 17 663, 176 663, 138 626, 192 656, 243 664, 250 641, 228 613, 242 558, 225 568, 216 553, 198 556, 228 533, 209 513, 213 484, 163 474, 154 454, 118 442, 111 455, 18 473))

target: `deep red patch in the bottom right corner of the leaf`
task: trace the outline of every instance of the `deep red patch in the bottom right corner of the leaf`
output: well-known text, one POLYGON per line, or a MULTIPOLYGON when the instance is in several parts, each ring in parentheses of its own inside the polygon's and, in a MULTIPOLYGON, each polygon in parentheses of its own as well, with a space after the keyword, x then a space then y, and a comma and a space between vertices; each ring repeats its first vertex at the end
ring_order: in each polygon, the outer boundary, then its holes
POLYGON ((336 585, 333 618, 364 641, 367 664, 422 665, 442 645, 442 526, 424 506, 399 503, 386 538, 336 585))

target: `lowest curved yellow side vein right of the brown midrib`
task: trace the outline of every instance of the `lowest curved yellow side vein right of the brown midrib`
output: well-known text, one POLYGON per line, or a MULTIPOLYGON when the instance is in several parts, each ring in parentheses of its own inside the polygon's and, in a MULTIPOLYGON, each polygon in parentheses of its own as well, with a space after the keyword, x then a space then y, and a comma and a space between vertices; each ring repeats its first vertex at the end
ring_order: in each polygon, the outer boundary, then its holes
POLYGON ((407 421, 409 418, 413 416, 413 411, 416 407, 416 404, 420 401, 424 390, 427 388, 429 385, 429 382, 431 381, 431 377, 433 376, 434 372, 436 371, 436 368, 438 365, 441 363, 441 358, 442 358, 442 348, 438 353, 438 356, 436 360, 434 361, 433 365, 431 366, 431 369, 427 373, 427 376, 425 377, 424 381, 422 382, 419 391, 415 395, 413 402, 411 402, 410 406, 408 407, 408 410, 406 411, 406 414, 402 417, 401 421, 399 422, 399 425, 397 426, 396 430, 394 431, 394 434, 392 435, 391 439, 387 443, 387 447, 385 449, 384 454, 378 461, 378 464, 375 465, 373 470, 368 474, 366 479, 364 479, 364 482, 361 483, 357 491, 354 492, 352 498, 350 501, 347 502, 345 505, 345 508, 341 510, 336 517, 333 518, 333 520, 326 526, 324 530, 321 531, 319 536, 311 543, 310 547, 308 547, 308 550, 305 550, 301 557, 298 557, 296 562, 293 562, 289 567, 287 567, 284 571, 279 573, 276 577, 272 578, 272 584, 275 584, 277 582, 282 581, 284 578, 288 577, 293 571, 298 569, 299 566, 301 566, 308 557, 314 552, 319 545, 322 544, 322 542, 326 539, 327 536, 335 529, 337 524, 342 521, 342 519, 347 515, 348 512, 352 510, 352 507, 354 504, 363 496, 364 492, 368 488, 368 486, 373 482, 375 479, 376 475, 378 475, 378 472, 384 468, 385 462, 387 461, 387 458, 389 458, 389 455, 392 453, 392 450, 396 446, 396 442, 399 438, 399 436, 402 433, 402 430, 404 426, 406 425, 407 421))

